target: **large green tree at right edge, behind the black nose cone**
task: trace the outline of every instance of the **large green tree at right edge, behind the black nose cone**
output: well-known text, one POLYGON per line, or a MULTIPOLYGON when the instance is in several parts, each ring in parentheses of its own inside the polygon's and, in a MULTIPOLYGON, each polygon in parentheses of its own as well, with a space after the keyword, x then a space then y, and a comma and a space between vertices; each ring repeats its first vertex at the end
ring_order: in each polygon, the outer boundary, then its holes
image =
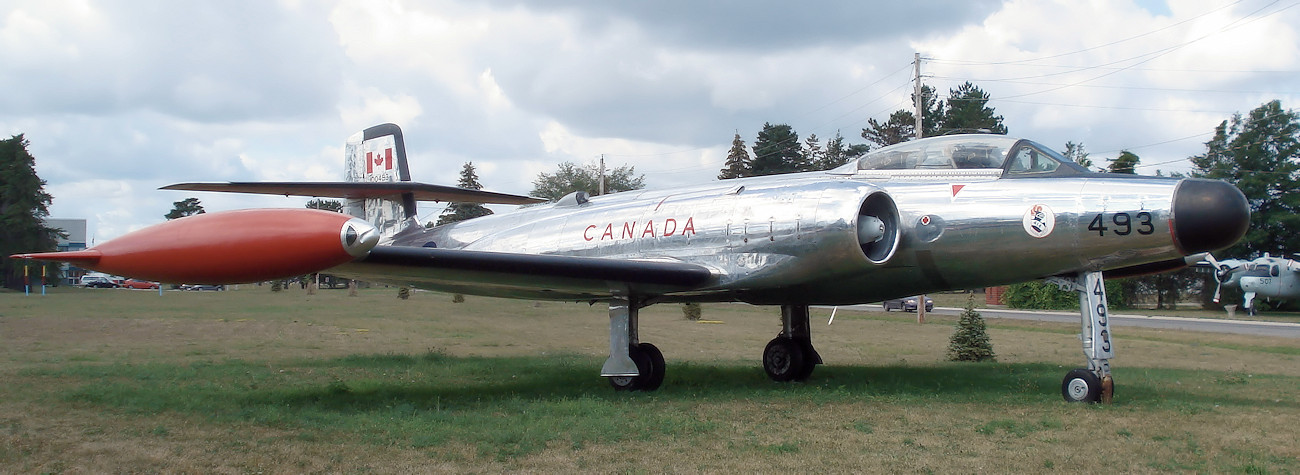
POLYGON ((1300 121, 1282 102, 1214 128, 1205 154, 1192 157, 1193 176, 1225 180, 1245 194, 1251 229, 1225 255, 1300 252, 1300 121))

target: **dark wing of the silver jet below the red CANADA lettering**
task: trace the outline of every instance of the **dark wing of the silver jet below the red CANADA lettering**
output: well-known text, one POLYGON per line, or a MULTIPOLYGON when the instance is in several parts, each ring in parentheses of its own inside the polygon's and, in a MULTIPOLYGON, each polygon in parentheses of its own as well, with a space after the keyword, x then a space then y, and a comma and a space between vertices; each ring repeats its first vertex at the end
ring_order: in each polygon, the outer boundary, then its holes
POLYGON ((376 246, 363 259, 324 271, 368 281, 499 297, 589 299, 616 293, 664 294, 712 284, 707 267, 633 260, 434 247, 376 246))

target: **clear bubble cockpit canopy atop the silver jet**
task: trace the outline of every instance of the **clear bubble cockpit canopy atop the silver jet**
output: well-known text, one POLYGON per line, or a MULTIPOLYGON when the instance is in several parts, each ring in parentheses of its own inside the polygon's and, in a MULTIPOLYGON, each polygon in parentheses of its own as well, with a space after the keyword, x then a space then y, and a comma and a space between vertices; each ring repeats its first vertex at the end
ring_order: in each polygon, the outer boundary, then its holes
POLYGON ((1006 135, 967 134, 924 138, 863 155, 832 173, 859 170, 1002 169, 1004 177, 1088 173, 1039 143, 1006 135))

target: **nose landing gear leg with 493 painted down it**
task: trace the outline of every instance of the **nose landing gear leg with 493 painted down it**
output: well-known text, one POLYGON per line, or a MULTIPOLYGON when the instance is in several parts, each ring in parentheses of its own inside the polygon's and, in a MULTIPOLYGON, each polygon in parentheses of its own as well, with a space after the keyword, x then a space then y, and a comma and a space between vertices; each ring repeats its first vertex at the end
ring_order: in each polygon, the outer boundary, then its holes
POLYGON ((1110 377, 1110 358, 1115 357, 1115 351, 1110 345, 1110 315, 1101 272, 1084 272, 1074 280, 1052 277, 1048 281, 1061 290, 1079 293, 1079 340, 1083 341, 1083 354, 1088 358, 1087 368, 1071 370, 1065 375, 1061 396, 1069 402, 1110 403, 1115 390, 1110 377))

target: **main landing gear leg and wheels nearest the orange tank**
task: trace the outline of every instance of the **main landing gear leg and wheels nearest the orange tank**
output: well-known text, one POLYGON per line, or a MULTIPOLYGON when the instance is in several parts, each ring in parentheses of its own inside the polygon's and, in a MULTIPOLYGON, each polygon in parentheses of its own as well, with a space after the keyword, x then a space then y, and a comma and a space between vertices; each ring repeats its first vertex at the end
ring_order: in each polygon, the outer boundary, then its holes
POLYGON ((616 390, 655 390, 663 384, 663 353, 637 338, 640 310, 632 298, 610 302, 610 358, 601 376, 616 390))

